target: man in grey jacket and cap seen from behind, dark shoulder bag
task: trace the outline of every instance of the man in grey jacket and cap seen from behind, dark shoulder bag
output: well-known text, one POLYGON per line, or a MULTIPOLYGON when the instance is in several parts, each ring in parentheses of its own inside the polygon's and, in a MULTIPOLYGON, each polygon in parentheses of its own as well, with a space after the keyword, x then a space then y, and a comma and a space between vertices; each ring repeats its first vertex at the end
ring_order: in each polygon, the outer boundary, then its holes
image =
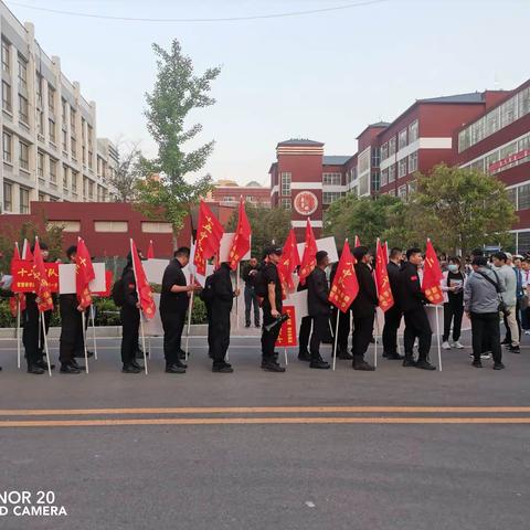
POLYGON ((506 292, 504 278, 488 267, 484 256, 473 259, 473 273, 464 289, 464 310, 471 320, 473 365, 483 368, 480 353, 483 344, 490 344, 494 370, 502 370, 500 348, 499 293, 506 292))

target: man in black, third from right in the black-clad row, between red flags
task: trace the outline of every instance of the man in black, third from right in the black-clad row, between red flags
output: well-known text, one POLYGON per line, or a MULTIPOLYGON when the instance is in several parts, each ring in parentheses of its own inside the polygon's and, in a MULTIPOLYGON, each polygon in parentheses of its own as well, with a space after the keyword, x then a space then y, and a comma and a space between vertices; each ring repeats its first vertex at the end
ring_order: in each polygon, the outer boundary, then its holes
POLYGON ((352 367, 353 370, 373 371, 375 368, 364 360, 364 353, 373 335, 373 321, 379 301, 372 269, 369 266, 372 256, 365 246, 356 247, 353 256, 357 259, 354 267, 359 294, 351 305, 353 314, 352 367))

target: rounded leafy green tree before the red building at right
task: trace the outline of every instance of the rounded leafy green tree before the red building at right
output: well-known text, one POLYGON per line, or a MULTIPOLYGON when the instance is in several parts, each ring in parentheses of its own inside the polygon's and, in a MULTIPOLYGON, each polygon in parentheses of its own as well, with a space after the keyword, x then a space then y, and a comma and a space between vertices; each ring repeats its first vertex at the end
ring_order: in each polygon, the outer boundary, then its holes
POLYGON ((516 221, 513 204, 498 179, 439 165, 430 174, 417 173, 406 224, 420 241, 431 237, 437 248, 465 255, 484 244, 509 244, 516 221))

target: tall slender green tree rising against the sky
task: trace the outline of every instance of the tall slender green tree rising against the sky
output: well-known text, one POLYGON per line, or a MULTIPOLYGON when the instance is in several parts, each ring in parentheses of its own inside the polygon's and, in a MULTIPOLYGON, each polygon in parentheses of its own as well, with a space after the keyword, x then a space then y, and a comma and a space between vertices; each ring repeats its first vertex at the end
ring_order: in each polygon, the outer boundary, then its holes
POLYGON ((211 83, 221 72, 208 68, 195 75, 191 59, 182 54, 177 39, 169 51, 153 44, 157 55, 157 81, 151 94, 146 94, 147 128, 158 144, 158 157, 142 159, 146 178, 139 183, 137 201, 140 210, 151 219, 163 219, 173 226, 173 244, 191 206, 212 188, 210 176, 186 180, 188 173, 200 171, 211 155, 214 141, 186 151, 186 144, 195 139, 202 126, 190 127, 186 120, 190 113, 213 105, 211 83), (152 178, 158 174, 158 178, 152 178))

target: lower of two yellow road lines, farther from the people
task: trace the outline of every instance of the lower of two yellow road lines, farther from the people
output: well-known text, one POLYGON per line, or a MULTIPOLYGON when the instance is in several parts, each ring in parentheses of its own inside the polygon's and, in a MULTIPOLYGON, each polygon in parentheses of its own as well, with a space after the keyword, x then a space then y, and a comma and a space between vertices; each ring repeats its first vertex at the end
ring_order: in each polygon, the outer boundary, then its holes
POLYGON ((127 425, 274 424, 530 424, 530 417, 163 417, 131 420, 42 420, 0 422, 1 427, 106 427, 127 425))

